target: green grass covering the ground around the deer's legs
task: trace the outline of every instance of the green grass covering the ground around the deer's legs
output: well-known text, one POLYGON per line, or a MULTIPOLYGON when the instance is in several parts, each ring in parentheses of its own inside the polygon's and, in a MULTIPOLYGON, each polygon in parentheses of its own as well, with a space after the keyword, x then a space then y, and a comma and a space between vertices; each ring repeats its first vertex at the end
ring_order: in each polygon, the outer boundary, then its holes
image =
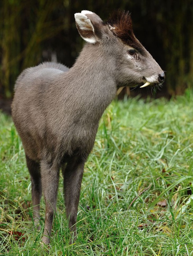
POLYGON ((35 232, 24 150, 0 114, 0 255, 193 255, 192 96, 109 106, 85 167, 78 239, 69 244, 60 175, 49 251, 45 202, 35 232))

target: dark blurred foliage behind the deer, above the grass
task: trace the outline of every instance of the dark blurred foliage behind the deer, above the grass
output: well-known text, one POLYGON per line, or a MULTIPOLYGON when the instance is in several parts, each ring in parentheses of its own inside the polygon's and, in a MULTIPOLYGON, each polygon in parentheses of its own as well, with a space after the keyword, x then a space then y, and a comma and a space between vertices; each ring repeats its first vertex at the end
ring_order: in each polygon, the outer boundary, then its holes
POLYGON ((45 60, 73 65, 84 43, 74 13, 90 10, 106 19, 118 8, 132 13, 136 37, 166 70, 167 92, 193 86, 192 0, 1 0, 0 99, 12 97, 26 67, 45 60))

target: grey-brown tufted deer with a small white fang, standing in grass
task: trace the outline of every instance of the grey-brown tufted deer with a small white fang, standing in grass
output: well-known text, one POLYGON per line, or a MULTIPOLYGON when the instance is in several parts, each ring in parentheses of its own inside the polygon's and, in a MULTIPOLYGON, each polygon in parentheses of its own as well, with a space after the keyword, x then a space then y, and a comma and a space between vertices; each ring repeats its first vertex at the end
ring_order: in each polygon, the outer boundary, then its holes
POLYGON ((69 228, 76 220, 85 161, 94 145, 99 120, 120 86, 160 85, 164 72, 136 39, 129 12, 115 12, 103 22, 93 12, 75 13, 80 36, 87 41, 72 68, 47 62, 27 68, 16 80, 12 117, 31 175, 34 223, 45 198, 45 229, 50 233, 59 182, 69 228))

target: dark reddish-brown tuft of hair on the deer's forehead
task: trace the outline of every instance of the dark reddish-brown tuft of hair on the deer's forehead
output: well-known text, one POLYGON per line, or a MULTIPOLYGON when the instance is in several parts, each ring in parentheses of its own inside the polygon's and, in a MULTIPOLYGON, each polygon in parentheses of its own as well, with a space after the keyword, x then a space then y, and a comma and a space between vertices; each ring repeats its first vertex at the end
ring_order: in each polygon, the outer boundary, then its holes
POLYGON ((112 32, 118 36, 125 44, 143 52, 143 46, 134 36, 131 14, 125 11, 115 11, 106 21, 106 24, 115 27, 112 32))

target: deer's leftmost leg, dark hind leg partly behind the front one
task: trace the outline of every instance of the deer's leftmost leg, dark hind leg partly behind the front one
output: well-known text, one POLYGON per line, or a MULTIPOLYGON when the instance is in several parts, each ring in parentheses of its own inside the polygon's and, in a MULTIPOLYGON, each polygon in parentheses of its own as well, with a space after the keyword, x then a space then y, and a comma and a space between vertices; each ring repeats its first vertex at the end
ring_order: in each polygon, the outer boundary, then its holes
MULTIPOLYGON (((26 155, 27 167, 31 176, 31 196, 33 203, 33 219, 34 225, 38 225, 40 220, 40 199, 42 195, 40 164, 30 159, 26 155)), ((38 226, 40 229, 40 226, 38 226)))

